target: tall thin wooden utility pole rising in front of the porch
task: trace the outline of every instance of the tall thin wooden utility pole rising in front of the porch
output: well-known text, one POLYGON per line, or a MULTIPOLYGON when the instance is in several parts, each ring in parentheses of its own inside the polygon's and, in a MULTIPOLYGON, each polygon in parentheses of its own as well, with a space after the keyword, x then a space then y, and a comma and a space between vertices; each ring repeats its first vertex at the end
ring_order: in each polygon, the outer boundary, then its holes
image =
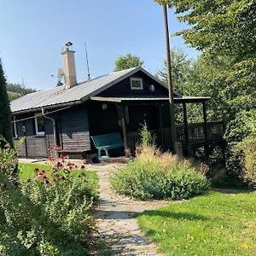
POLYGON ((175 106, 174 106, 174 100, 173 100, 172 65, 171 65, 171 56, 170 56, 171 49, 170 49, 166 3, 163 4, 163 9, 164 9, 164 21, 165 21, 165 29, 166 29, 166 66, 167 66, 167 78, 168 78, 168 90, 169 90, 172 150, 173 150, 173 153, 176 153, 177 133, 176 133, 176 127, 175 127, 175 106))

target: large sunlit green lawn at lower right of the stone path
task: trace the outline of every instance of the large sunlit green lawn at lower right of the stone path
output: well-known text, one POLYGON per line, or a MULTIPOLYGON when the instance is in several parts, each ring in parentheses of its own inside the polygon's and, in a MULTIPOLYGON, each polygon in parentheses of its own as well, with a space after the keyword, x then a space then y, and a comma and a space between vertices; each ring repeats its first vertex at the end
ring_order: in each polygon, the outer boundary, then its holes
POLYGON ((256 255, 256 192, 211 192, 137 219, 167 255, 256 255))

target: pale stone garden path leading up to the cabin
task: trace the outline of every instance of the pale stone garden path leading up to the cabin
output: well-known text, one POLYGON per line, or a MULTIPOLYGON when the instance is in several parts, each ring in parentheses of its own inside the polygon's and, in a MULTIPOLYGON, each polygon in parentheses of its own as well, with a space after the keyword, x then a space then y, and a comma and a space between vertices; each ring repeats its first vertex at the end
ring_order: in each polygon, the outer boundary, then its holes
POLYGON ((168 202, 134 201, 115 195, 110 188, 109 177, 116 167, 94 165, 87 169, 96 171, 99 176, 100 201, 96 209, 96 225, 98 236, 110 244, 113 255, 160 255, 155 245, 143 236, 133 215, 165 206, 168 202))

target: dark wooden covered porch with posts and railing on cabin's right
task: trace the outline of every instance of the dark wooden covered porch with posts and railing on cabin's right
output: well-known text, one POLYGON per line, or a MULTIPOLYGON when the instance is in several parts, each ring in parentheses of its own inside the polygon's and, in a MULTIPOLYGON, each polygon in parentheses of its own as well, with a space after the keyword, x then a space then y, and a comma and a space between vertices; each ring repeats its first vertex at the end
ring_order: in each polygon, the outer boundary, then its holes
MULTIPOLYGON (((208 147, 221 143, 224 124, 221 120, 207 121, 206 102, 209 97, 175 97, 175 104, 182 106, 182 122, 176 124, 177 142, 182 143, 184 153, 191 148, 208 147), (202 122, 188 122, 187 105, 201 104, 202 122)), ((172 151, 169 99, 166 97, 91 97, 92 102, 114 105, 120 133, 124 138, 125 154, 135 154, 140 143, 140 129, 146 122, 155 137, 155 143, 163 150, 172 151)))

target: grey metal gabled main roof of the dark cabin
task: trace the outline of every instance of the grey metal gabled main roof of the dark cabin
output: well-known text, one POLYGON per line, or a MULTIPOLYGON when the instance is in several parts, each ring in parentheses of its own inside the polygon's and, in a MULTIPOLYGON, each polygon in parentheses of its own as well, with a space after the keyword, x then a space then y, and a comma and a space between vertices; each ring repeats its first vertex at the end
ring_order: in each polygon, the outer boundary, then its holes
MULTIPOLYGON (((144 70, 143 67, 133 67, 119 72, 109 73, 95 79, 88 79, 70 89, 65 89, 65 85, 62 85, 53 89, 27 94, 10 103, 11 111, 12 113, 20 113, 39 110, 40 108, 56 108, 79 104, 90 99, 90 96, 96 96, 102 90, 108 89, 113 84, 119 83, 121 80, 128 78, 138 71, 142 71, 151 79, 166 87, 166 84, 156 79, 152 74, 144 70)), ((176 92, 174 94, 175 96, 180 96, 176 92)))

